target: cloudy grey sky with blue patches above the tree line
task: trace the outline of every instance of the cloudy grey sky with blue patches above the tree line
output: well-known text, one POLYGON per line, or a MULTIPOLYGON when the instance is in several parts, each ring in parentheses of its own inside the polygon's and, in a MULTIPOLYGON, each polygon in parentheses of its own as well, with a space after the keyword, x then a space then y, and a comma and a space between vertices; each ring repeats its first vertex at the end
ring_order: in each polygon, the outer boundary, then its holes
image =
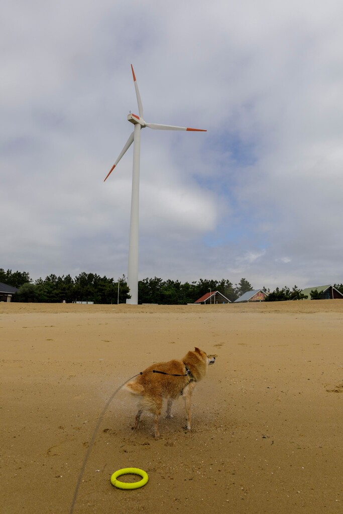
POLYGON ((343 282, 341 0, 13 0, 0 20, 0 267, 343 282))

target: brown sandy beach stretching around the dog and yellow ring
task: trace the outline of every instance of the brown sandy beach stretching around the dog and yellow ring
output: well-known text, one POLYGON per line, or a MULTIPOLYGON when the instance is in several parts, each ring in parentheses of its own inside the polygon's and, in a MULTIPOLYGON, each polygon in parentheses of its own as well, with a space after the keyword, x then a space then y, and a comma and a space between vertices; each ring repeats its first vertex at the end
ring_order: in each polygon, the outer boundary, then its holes
MULTIPOLYGON (((3 512, 69 513, 122 382, 199 346, 217 354, 174 418, 131 425, 119 391, 74 514, 342 512, 343 301, 216 306, 0 303, 3 512), (149 474, 114 488, 124 467, 149 474)), ((122 478, 124 481, 124 478, 122 478)))

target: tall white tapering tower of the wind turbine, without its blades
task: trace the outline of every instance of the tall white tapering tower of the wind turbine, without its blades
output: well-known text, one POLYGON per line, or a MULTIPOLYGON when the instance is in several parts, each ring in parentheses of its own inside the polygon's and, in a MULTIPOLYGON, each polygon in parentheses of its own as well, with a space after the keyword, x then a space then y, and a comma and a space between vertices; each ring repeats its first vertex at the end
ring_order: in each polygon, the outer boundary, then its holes
POLYGON ((131 298, 127 303, 138 304, 138 219, 139 219, 139 154, 140 124, 135 124, 133 139, 132 195, 129 240, 128 286, 131 298))

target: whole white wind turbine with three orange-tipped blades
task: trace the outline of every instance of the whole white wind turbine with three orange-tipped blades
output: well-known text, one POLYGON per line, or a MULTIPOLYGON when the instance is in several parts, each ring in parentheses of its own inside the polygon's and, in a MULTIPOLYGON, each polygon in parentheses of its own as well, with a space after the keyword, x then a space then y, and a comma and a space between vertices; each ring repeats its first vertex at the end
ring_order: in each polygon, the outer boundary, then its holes
MULTIPOLYGON (((124 148, 119 154, 118 159, 113 164, 105 180, 111 175, 118 162, 125 152, 133 145, 133 170, 132 170, 132 195, 131 195, 131 218, 130 218, 130 239, 129 239, 129 266, 128 266, 128 286, 130 287, 131 299, 127 303, 137 305, 138 303, 138 220, 139 220, 139 159, 140 159, 140 130, 149 127, 154 130, 185 130, 192 132, 207 132, 202 128, 176 127, 173 125, 160 125, 158 123, 147 123, 143 120, 143 106, 140 99, 138 84, 135 72, 131 64, 133 81, 136 90, 139 116, 136 114, 128 115, 128 121, 134 124, 134 131, 124 144, 124 148)), ((104 180, 104 181, 105 181, 104 180)))

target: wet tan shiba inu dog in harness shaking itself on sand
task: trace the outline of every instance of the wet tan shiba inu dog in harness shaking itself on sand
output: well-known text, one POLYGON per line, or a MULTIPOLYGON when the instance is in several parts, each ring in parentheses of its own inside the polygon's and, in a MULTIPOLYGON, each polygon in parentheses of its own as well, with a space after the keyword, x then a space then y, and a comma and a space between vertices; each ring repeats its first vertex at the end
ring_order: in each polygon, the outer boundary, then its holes
POLYGON ((214 364, 215 356, 208 356, 200 348, 188 352, 182 360, 170 360, 152 364, 124 388, 137 395, 138 412, 135 418, 136 429, 144 410, 154 414, 154 434, 158 439, 158 418, 161 414, 163 399, 167 399, 167 417, 172 417, 173 400, 182 396, 185 401, 187 430, 191 429, 191 402, 196 382, 205 377, 209 364, 214 364))

